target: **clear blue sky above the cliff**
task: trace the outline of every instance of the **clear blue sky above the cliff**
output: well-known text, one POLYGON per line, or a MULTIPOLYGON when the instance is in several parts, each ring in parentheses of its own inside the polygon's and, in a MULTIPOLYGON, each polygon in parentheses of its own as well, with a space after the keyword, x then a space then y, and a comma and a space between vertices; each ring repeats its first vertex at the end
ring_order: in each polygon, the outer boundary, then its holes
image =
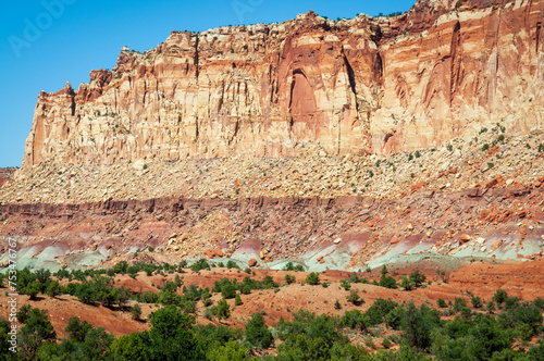
POLYGON ((115 66, 121 47, 144 51, 171 30, 274 23, 309 10, 330 18, 405 12, 415 0, 25 0, 0 13, 0 167, 21 165, 40 90, 77 89, 115 66))

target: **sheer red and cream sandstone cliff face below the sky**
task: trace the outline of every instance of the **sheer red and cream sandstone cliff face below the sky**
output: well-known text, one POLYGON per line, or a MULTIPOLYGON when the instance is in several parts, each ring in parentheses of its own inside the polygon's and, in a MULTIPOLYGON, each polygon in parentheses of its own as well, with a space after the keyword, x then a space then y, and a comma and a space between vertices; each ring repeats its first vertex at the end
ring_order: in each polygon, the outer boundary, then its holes
POLYGON ((422 0, 396 17, 173 32, 41 92, 24 166, 387 153, 543 123, 544 1, 422 0))

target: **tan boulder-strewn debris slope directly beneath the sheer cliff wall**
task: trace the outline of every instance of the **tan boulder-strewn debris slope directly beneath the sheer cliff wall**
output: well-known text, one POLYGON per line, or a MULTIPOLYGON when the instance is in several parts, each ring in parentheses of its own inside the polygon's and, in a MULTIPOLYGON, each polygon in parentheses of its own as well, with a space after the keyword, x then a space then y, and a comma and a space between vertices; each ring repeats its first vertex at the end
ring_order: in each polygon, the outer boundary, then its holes
POLYGON ((401 197, 413 191, 534 187, 544 183, 544 134, 511 137, 504 122, 447 146, 390 155, 137 161, 109 166, 41 163, 0 189, 0 203, 87 203, 154 198, 401 197))

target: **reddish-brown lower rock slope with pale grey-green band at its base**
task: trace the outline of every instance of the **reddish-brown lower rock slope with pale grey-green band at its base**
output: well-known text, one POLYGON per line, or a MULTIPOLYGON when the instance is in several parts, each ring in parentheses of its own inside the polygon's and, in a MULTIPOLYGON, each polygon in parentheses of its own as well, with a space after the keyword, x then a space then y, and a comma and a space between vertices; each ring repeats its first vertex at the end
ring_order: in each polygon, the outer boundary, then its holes
MULTIPOLYGON (((316 270, 423 257, 540 259, 542 188, 480 187, 405 197, 156 199, 0 207, 21 265, 85 267, 157 248, 183 258, 296 258, 316 270), (25 263, 26 262, 26 263, 25 263)), ((7 257, 7 241, 0 253, 7 257)), ((263 263, 265 262, 265 263, 263 263)), ((255 262, 254 262, 255 264, 255 262)), ((273 263, 270 263, 273 265, 273 263)))

